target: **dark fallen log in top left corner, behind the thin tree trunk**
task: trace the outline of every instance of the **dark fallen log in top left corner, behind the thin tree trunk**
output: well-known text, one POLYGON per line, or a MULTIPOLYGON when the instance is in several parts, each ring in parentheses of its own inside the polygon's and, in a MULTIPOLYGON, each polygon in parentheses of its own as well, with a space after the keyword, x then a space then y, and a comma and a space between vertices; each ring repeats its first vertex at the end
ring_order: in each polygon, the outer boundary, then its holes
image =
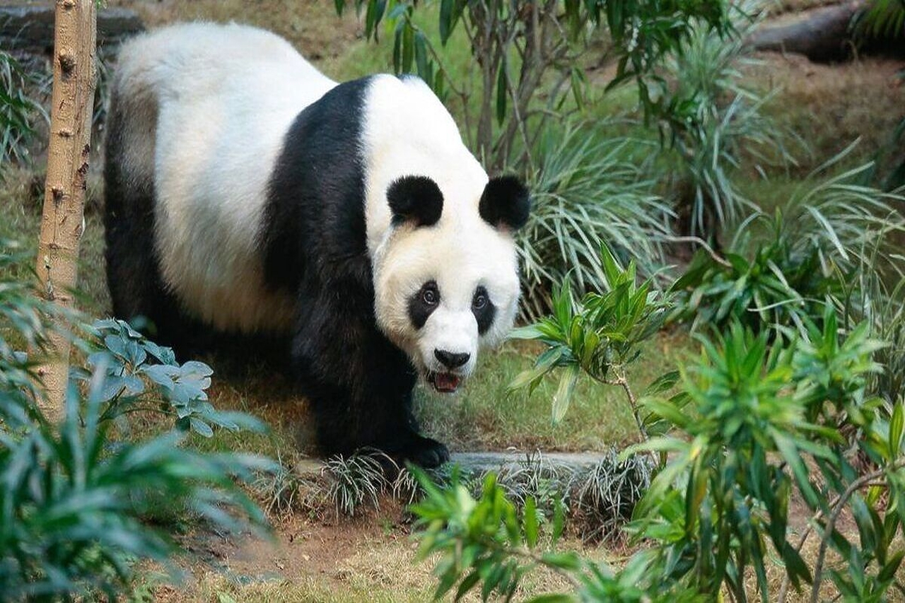
MULTIPOLYGON (((0 6, 0 49, 29 53, 53 51, 53 3, 0 6)), ((144 31, 145 25, 128 8, 98 11, 98 44, 115 44, 144 31)))

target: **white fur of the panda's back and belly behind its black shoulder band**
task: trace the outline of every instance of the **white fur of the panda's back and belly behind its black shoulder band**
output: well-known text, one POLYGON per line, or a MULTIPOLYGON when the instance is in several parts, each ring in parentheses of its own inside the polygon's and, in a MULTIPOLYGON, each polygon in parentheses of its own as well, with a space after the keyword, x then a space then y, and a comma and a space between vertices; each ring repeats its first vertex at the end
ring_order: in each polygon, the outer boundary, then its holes
MULTIPOLYGON (((293 301, 263 287, 256 242, 273 165, 292 120, 336 82, 280 37, 237 24, 178 24, 125 44, 119 98, 148 99, 164 281, 220 330, 283 330, 293 301)), ((133 126, 141 125, 133 122, 133 126)), ((138 148, 147 144, 136 129, 138 148)))

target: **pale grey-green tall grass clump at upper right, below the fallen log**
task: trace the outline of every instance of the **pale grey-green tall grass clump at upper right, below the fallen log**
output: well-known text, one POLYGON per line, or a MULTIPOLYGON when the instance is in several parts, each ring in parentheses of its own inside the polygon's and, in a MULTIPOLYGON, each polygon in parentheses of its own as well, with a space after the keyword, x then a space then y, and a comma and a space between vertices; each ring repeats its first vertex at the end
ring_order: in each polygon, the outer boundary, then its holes
POLYGON ((736 11, 735 37, 699 27, 667 72, 674 82, 670 124, 682 234, 715 238, 719 228, 738 223, 757 206, 736 184, 739 171, 755 177, 766 167, 795 164, 793 147, 804 143, 764 111, 773 94, 744 84, 744 38, 757 18, 736 11), (794 143, 794 144, 793 144, 794 143))

